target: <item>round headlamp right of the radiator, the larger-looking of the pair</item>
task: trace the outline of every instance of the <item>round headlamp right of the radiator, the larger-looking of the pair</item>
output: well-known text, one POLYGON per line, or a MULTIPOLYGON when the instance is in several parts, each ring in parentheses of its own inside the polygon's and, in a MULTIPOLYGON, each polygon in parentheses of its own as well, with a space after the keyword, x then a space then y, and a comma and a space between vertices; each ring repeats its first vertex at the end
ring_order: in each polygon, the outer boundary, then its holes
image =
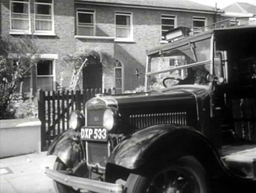
POLYGON ((111 108, 106 109, 103 114, 103 126, 107 130, 113 129, 113 127, 115 127, 115 125, 117 125, 117 121, 118 121, 117 117, 118 117, 118 115, 115 110, 113 110, 111 108))

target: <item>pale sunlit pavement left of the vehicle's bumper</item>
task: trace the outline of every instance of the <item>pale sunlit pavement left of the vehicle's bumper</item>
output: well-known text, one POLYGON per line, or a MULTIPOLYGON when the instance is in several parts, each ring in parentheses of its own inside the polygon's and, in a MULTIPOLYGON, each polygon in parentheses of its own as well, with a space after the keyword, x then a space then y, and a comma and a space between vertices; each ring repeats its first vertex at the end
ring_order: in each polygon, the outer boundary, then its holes
POLYGON ((0 193, 55 193, 44 171, 53 168, 55 156, 46 152, 0 159, 0 193), (4 174, 8 167, 12 173, 4 174))

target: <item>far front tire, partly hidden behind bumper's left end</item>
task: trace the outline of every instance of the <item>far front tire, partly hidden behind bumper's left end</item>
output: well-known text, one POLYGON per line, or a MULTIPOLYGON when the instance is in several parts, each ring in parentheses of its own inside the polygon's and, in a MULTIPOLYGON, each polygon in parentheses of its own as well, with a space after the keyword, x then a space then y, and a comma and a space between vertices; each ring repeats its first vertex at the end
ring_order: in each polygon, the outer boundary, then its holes
MULTIPOLYGON (((67 169, 67 166, 59 158, 57 158, 55 160, 53 170, 65 170, 65 169, 67 169)), ((54 180, 53 180, 53 186, 57 193, 79 193, 79 191, 74 190, 72 187, 63 185, 54 180)))

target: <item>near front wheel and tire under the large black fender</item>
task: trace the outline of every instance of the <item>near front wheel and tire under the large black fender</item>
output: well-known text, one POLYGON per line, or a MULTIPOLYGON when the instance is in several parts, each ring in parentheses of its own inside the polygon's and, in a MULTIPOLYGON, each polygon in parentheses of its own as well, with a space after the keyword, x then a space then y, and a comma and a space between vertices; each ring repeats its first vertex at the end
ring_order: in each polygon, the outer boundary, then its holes
POLYGON ((130 174, 127 193, 209 193, 206 172, 193 156, 182 156, 151 176, 130 174))

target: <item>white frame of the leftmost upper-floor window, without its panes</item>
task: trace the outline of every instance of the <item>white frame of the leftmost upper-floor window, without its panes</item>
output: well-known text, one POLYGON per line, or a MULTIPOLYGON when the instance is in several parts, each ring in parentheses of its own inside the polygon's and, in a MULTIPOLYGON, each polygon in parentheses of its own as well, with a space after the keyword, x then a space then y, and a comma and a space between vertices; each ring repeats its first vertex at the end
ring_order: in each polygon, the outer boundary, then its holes
POLYGON ((15 0, 10 0, 10 34, 31 34, 31 18, 30 18, 30 0, 27 2, 22 2, 22 1, 15 1, 15 0), (28 19, 21 19, 17 18, 20 20, 28 20, 29 22, 29 29, 24 30, 24 29, 12 29, 12 3, 26 3, 28 4, 28 19))

